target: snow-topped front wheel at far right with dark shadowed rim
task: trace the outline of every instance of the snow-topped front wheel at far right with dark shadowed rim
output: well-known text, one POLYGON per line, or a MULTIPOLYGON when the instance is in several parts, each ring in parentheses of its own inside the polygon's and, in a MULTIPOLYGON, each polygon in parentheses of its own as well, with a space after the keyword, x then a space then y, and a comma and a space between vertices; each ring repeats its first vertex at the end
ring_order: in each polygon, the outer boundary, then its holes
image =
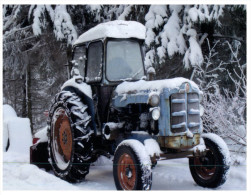
POLYGON ((225 183, 230 164, 230 155, 225 142, 213 133, 202 135, 207 153, 203 157, 189 159, 189 167, 194 181, 208 188, 216 188, 225 183))

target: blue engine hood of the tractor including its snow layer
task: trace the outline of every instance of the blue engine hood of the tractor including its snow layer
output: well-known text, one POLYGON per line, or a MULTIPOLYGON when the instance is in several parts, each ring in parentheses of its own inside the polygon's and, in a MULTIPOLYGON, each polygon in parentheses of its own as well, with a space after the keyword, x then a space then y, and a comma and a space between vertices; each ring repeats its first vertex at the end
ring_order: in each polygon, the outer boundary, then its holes
POLYGON ((193 81, 181 77, 157 81, 123 82, 115 89, 113 105, 125 107, 128 104, 148 103, 153 93, 168 99, 172 93, 185 91, 202 93, 193 81))

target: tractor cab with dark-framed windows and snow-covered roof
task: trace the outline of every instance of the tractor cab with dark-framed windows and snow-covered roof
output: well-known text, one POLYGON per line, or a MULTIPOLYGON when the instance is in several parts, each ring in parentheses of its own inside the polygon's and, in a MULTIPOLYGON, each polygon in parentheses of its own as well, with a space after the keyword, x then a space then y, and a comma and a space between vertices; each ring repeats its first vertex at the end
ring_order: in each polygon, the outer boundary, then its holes
POLYGON ((80 74, 88 84, 106 86, 146 79, 144 39, 145 27, 137 22, 97 25, 74 43, 71 76, 80 74))

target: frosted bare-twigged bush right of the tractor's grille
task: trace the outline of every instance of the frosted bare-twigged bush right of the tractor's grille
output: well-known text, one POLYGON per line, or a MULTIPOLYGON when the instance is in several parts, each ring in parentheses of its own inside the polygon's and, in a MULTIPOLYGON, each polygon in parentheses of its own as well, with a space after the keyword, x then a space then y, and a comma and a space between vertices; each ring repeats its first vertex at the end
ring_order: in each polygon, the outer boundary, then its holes
POLYGON ((228 41, 227 46, 232 54, 226 62, 218 61, 217 41, 210 47, 201 66, 194 69, 194 79, 203 90, 204 115, 202 116, 204 130, 214 132, 221 136, 232 152, 246 152, 246 73, 245 64, 241 64, 239 44, 233 47, 228 41), (232 65, 232 73, 228 66, 232 65), (228 76, 231 87, 234 89, 220 88, 221 74, 228 76))

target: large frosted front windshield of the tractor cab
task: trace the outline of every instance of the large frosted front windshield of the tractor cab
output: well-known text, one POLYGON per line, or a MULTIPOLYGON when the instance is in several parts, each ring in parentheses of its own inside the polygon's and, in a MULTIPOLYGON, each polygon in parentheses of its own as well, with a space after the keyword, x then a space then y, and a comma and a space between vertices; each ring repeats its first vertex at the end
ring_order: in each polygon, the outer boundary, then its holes
POLYGON ((141 49, 136 41, 108 41, 106 62, 109 81, 139 80, 144 76, 141 49))

